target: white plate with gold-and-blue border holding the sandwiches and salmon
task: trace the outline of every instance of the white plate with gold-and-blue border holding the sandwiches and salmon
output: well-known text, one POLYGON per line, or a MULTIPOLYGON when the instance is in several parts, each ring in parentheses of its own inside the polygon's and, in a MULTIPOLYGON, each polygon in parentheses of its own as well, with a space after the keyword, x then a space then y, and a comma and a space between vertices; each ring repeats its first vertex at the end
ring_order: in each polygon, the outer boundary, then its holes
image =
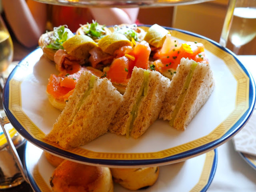
POLYGON ((10 74, 4 88, 4 109, 12 125, 28 141, 50 153, 86 164, 152 166, 181 162, 208 152, 232 138, 248 121, 255 105, 254 80, 229 50, 202 36, 171 30, 179 42, 202 42, 216 87, 186 131, 157 120, 137 140, 107 133, 84 146, 64 150, 43 140, 60 111, 46 95, 53 63, 36 49, 10 74))

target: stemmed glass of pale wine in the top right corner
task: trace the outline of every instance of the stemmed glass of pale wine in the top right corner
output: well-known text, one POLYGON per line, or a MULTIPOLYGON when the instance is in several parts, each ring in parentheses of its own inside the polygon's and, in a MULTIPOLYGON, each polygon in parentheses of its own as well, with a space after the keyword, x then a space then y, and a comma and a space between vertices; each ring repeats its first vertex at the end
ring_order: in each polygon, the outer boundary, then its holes
POLYGON ((256 36, 256 0, 236 0, 228 39, 233 44, 233 52, 256 36))

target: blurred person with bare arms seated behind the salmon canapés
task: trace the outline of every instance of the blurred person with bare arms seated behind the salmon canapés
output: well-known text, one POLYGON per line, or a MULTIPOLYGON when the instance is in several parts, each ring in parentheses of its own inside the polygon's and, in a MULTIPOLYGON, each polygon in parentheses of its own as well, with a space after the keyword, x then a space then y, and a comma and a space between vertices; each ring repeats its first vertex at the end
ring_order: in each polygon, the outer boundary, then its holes
POLYGON ((49 5, 34 0, 2 0, 6 20, 18 42, 30 48, 38 46, 39 37, 53 27, 67 25, 75 32, 80 24, 133 24, 139 8, 80 8, 49 5))

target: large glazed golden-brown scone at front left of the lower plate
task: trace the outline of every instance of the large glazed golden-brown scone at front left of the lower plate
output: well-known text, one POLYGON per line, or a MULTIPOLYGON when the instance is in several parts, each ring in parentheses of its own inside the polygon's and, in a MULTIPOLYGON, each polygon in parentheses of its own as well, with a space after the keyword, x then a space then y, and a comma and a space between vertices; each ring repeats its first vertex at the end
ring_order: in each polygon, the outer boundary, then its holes
POLYGON ((50 178, 53 192, 113 192, 113 180, 107 167, 89 166, 64 160, 50 178))

